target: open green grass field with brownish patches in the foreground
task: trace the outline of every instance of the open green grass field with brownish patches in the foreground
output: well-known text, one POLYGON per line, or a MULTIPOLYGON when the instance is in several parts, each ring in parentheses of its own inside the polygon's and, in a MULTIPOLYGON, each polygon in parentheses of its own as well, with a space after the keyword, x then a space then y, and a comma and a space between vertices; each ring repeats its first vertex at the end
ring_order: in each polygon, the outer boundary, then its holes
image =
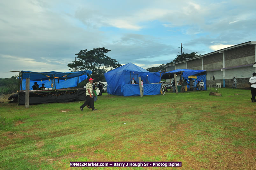
MULTIPOLYGON (((182 167, 171 169, 256 169, 256 103, 250 90, 219 92, 220 97, 196 91, 143 98, 104 93, 95 103, 97 111, 85 107, 83 112, 83 102, 29 109, 0 103, 0 169, 83 169, 69 167, 69 161, 181 161, 182 167)), ((131 168, 163 169, 122 169, 131 168)))

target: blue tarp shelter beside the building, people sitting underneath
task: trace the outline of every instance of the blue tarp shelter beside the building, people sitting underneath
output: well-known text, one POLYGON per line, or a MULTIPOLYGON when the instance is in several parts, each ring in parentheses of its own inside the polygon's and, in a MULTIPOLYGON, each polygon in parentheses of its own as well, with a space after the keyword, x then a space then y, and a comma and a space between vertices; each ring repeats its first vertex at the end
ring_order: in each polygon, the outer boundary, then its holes
MULTIPOLYGON (((187 80, 188 80, 188 76, 190 76, 190 75, 196 76, 196 79, 192 78, 192 80, 195 80, 195 81, 203 80, 203 82, 204 82, 204 89, 207 90, 206 71, 205 70, 176 69, 176 70, 164 73, 162 75, 162 79, 170 79, 170 78, 172 79, 172 78, 174 78, 174 73, 176 75, 182 74, 182 77, 184 79, 187 79, 187 80)), ((177 80, 177 81, 179 81, 179 80, 177 80)))

